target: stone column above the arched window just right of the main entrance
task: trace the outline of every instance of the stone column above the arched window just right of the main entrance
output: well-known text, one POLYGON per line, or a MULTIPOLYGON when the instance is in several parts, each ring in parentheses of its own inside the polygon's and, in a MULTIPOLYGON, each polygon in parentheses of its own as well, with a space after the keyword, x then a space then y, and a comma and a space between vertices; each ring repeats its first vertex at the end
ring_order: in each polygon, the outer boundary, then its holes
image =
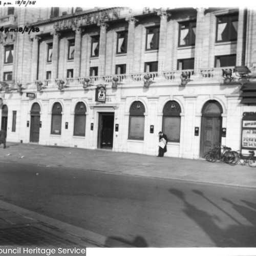
POLYGON ((135 46, 135 24, 138 19, 135 17, 125 18, 129 23, 128 27, 128 41, 127 41, 127 62, 126 62, 126 76, 131 76, 133 73, 133 61, 134 61, 134 46, 135 46))

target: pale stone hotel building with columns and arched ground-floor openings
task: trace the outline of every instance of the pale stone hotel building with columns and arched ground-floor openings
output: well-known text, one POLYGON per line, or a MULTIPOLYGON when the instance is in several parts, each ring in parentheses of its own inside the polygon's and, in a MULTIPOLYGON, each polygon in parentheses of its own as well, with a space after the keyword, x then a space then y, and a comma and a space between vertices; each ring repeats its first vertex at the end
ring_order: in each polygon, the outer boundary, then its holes
POLYGON ((166 156, 256 150, 252 9, 0 8, 0 28, 7 141, 157 155, 163 131, 166 156))

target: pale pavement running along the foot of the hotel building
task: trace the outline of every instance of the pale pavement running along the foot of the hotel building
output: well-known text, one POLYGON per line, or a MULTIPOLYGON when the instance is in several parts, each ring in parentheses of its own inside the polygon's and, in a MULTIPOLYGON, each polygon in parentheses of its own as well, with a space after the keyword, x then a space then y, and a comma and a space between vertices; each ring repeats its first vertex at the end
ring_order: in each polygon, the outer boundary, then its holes
POLYGON ((256 168, 205 160, 9 142, 5 150, 0 147, 3 161, 256 188, 256 168))

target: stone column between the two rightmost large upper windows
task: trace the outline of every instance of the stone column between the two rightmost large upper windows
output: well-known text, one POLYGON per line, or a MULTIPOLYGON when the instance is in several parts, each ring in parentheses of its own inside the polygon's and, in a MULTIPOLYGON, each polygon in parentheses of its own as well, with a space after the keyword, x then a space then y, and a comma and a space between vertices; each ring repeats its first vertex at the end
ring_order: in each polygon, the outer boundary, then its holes
POLYGON ((203 26, 204 26, 204 11, 206 8, 197 8, 197 32, 195 44, 195 64, 194 64, 194 77, 201 78, 200 71, 203 55, 203 26))

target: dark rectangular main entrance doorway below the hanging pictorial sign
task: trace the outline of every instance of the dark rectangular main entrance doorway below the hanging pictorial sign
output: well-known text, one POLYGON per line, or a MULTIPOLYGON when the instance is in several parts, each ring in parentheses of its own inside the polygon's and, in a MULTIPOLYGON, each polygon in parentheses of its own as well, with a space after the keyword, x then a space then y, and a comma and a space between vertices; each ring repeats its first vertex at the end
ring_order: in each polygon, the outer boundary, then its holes
POLYGON ((99 113, 98 148, 112 149, 114 113, 99 113))

